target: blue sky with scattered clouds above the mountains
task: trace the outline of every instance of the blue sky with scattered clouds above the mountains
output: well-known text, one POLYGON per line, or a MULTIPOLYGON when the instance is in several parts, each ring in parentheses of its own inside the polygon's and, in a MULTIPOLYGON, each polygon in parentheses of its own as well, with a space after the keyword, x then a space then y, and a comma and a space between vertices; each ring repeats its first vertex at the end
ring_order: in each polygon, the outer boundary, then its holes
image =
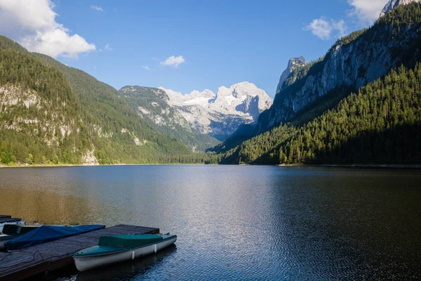
POLYGON ((7 23, 16 28, 0 27, 1 34, 116 89, 130 84, 189 93, 250 81, 273 97, 289 58, 319 58, 340 35, 370 25, 387 0, 27 0, 37 5, 29 23, 16 20, 22 6, 4 1, 0 18, 10 15, 7 23), (43 17, 46 24, 39 23, 43 17))

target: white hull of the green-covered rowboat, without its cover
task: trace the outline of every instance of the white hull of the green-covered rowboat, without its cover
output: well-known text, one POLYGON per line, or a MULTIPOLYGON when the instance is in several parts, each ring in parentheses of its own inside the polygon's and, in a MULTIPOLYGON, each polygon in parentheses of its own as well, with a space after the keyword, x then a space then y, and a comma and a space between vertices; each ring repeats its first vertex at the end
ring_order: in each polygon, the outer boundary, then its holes
POLYGON ((156 244, 149 244, 144 247, 135 249, 128 249, 126 251, 112 252, 109 254, 100 254, 95 256, 73 256, 74 264, 79 271, 91 270, 93 268, 100 268, 102 266, 109 266, 114 263, 121 263, 122 261, 131 261, 138 259, 148 254, 156 253, 161 249, 164 249, 177 240, 177 236, 170 239, 157 242, 156 244))

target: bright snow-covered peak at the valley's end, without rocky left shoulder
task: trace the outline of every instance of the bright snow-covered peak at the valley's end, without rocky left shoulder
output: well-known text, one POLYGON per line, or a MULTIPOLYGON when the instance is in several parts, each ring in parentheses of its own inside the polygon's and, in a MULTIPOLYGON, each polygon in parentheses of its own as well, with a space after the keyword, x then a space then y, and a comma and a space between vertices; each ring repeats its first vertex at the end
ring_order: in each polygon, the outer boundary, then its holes
POLYGON ((242 124, 257 122, 260 112, 273 103, 265 91, 249 82, 229 88, 221 86, 216 93, 204 90, 182 95, 170 89, 160 89, 166 91, 170 104, 178 108, 196 131, 220 140, 230 136, 242 124))

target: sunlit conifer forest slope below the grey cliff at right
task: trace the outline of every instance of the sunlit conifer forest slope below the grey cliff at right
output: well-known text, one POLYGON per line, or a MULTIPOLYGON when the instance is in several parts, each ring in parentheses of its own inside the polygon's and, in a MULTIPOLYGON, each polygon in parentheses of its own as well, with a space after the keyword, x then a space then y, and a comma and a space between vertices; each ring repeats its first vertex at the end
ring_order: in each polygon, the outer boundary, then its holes
POLYGON ((229 150, 225 164, 419 163, 421 64, 399 67, 304 126, 282 124, 229 150))

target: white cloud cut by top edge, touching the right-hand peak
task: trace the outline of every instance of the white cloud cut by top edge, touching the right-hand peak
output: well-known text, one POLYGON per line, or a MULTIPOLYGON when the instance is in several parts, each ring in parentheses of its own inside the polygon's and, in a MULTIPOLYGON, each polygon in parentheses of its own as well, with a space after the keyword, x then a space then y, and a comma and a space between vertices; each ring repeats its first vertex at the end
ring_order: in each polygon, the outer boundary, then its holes
POLYGON ((366 25, 379 18, 387 0, 348 0, 348 3, 352 6, 348 15, 358 18, 361 25, 366 25))

